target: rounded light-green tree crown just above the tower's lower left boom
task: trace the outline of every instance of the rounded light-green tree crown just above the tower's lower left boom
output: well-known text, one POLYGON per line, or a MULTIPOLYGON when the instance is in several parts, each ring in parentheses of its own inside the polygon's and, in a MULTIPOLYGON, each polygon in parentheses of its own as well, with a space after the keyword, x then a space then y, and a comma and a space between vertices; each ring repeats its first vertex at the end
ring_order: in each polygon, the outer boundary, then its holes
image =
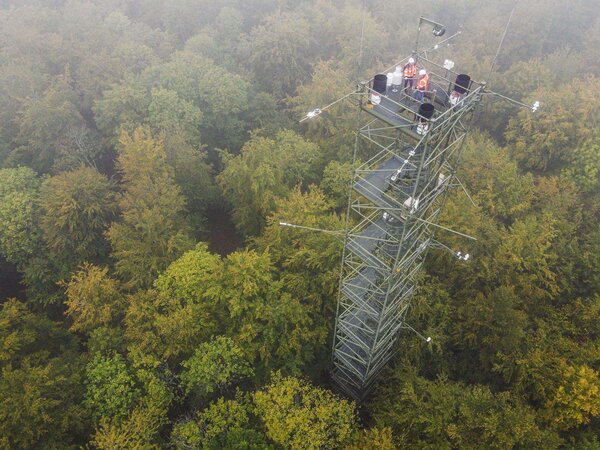
POLYGON ((241 155, 226 157, 217 182, 233 206, 236 226, 245 234, 258 233, 277 198, 313 180, 317 157, 317 146, 292 131, 280 131, 273 139, 255 135, 241 155))

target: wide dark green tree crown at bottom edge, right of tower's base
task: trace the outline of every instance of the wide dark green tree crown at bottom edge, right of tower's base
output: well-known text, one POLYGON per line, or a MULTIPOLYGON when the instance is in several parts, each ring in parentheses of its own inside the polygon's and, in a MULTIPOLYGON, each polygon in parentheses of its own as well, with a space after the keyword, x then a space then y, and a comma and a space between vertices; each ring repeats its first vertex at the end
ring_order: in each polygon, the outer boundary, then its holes
POLYGON ((429 381, 396 371, 370 409, 379 426, 393 430, 400 447, 557 448, 560 442, 539 428, 533 409, 508 393, 446 378, 429 381))

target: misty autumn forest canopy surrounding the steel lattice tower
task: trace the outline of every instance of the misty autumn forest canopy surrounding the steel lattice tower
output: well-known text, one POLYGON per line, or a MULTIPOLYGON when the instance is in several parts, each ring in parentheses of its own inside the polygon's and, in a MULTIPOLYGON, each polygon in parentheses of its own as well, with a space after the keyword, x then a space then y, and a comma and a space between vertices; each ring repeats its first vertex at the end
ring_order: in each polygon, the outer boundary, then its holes
MULTIPOLYGON (((600 4, 520 2, 396 361, 327 375, 356 111, 419 15, 512 0, 0 0, 0 447, 600 448, 600 4), (366 8, 366 9, 365 9, 366 8), (359 57, 364 19, 364 47, 359 57), (232 223, 235 225, 233 227, 232 223)), ((360 154, 359 157, 367 157, 360 154)))

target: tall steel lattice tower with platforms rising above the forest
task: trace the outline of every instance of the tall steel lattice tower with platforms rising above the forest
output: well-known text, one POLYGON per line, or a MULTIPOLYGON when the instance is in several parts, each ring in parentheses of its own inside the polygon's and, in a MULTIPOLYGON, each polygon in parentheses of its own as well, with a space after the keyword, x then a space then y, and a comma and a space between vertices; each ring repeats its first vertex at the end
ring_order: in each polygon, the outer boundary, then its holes
MULTIPOLYGON (((423 18, 419 31, 423 24, 432 25, 436 36, 444 32, 423 18)), ((434 242, 448 190, 456 185, 463 144, 485 88, 454 72, 451 61, 436 63, 427 51, 418 51, 418 37, 415 47, 411 57, 430 77, 422 100, 397 86, 398 72, 376 75, 348 97, 360 109, 355 155, 369 152, 370 159, 353 172, 349 195, 333 378, 357 400, 398 346, 416 276, 434 242)))

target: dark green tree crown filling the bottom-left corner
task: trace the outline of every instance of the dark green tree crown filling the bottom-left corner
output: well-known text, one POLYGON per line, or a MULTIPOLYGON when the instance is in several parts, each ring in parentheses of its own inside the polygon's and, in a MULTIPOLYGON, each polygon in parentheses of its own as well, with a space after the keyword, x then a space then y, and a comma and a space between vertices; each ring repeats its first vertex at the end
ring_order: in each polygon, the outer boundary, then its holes
POLYGON ((77 343, 7 300, 0 310, 0 447, 72 448, 87 422, 77 343))

